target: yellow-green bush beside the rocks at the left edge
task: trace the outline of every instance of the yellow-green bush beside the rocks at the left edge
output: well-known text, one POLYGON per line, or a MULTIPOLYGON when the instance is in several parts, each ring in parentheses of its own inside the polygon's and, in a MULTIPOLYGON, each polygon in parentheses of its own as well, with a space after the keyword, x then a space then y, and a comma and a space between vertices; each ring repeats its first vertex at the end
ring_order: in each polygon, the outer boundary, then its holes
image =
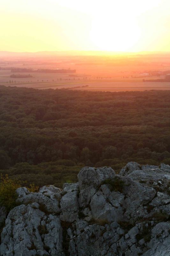
POLYGON ((8 177, 8 174, 3 177, 1 174, 0 183, 0 204, 4 205, 7 211, 14 208, 17 203, 16 189, 20 187, 20 182, 18 180, 12 180, 8 177))

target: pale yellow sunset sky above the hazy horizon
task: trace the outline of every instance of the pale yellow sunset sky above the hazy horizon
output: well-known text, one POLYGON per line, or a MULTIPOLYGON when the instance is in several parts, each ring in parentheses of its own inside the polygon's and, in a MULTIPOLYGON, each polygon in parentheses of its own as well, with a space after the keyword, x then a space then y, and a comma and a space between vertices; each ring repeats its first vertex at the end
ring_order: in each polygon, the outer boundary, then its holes
POLYGON ((0 51, 170 51, 169 0, 0 0, 0 51))

